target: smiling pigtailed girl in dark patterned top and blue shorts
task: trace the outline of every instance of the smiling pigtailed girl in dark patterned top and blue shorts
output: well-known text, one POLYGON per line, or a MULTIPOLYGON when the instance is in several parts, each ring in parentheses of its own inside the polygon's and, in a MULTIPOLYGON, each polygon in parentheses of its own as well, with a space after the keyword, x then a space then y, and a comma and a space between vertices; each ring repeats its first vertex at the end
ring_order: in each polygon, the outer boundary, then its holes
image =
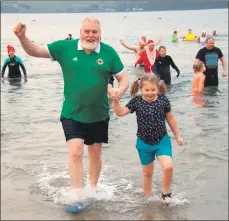
POLYGON ((144 194, 146 197, 152 195, 152 176, 156 156, 163 170, 161 199, 169 203, 173 160, 171 141, 165 121, 169 124, 178 144, 182 145, 183 141, 165 93, 164 81, 159 80, 155 74, 146 73, 133 82, 131 87, 133 98, 129 103, 121 107, 119 100, 114 100, 113 108, 117 116, 136 112, 138 124, 136 148, 143 168, 144 194), (135 96, 139 88, 142 95, 135 96))

